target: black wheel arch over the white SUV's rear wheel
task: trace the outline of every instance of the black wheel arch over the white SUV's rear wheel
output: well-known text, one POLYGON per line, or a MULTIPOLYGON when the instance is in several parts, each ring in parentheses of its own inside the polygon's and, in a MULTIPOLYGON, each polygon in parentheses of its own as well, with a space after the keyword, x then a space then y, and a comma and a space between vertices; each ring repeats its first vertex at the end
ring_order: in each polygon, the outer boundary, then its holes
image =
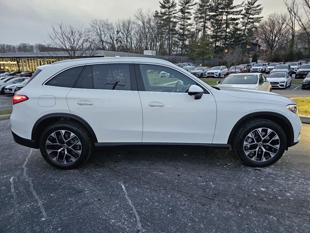
POLYGON ((40 117, 33 125, 31 140, 33 140, 35 145, 38 146, 40 142, 39 137, 41 133, 43 133, 43 131, 47 128, 47 126, 60 121, 73 121, 81 124, 88 131, 88 133, 93 139, 93 142, 98 142, 96 134, 93 132, 92 127, 83 118, 68 113, 52 113, 40 117))

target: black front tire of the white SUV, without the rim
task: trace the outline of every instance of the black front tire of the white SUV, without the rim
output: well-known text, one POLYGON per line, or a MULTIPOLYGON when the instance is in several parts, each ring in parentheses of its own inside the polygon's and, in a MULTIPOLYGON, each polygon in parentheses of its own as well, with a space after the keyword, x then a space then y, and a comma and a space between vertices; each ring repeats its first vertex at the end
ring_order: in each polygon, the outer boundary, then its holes
POLYGON ((285 132, 283 129, 275 122, 267 119, 254 119, 251 121, 248 121, 245 124, 242 124, 242 126, 238 129, 238 131, 235 133, 232 143, 232 149, 233 151, 239 156, 239 158, 248 166, 253 167, 265 167, 270 166, 274 163, 276 163, 283 155, 285 149, 287 147, 287 139, 285 132), (279 136, 279 150, 278 152, 272 157, 271 159, 265 161, 265 162, 256 162, 248 158, 244 151, 244 141, 249 133, 254 131, 255 129, 259 128, 268 128, 273 130, 275 133, 279 136))

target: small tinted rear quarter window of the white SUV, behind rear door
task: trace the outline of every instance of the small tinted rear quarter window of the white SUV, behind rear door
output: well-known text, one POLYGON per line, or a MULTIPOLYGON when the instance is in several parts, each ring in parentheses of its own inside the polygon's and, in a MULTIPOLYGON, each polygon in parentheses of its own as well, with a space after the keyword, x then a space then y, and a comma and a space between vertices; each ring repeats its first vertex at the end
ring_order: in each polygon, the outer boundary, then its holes
POLYGON ((48 81, 46 85, 48 86, 61 86, 61 87, 73 87, 74 83, 77 81, 79 74, 81 73, 83 67, 74 67, 67 69, 62 73, 56 75, 53 79, 48 81))

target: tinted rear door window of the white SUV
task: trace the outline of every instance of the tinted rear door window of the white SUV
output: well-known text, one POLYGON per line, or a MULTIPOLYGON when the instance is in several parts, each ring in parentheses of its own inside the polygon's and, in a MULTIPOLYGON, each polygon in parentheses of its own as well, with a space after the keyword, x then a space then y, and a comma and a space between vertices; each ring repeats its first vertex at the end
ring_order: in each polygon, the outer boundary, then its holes
POLYGON ((99 90, 131 90, 128 64, 86 66, 75 88, 99 90))

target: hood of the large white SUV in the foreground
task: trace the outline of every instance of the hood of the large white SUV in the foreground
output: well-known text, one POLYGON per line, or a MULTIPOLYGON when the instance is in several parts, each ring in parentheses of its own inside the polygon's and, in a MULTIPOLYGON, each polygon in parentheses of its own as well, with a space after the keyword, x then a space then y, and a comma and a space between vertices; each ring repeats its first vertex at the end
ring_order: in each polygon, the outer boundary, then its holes
POLYGON ((250 90, 250 89, 236 89, 236 88, 220 88, 226 95, 235 98, 253 99, 253 100, 270 100, 282 102, 285 104, 294 104, 295 101, 286 97, 280 96, 273 92, 250 90))

